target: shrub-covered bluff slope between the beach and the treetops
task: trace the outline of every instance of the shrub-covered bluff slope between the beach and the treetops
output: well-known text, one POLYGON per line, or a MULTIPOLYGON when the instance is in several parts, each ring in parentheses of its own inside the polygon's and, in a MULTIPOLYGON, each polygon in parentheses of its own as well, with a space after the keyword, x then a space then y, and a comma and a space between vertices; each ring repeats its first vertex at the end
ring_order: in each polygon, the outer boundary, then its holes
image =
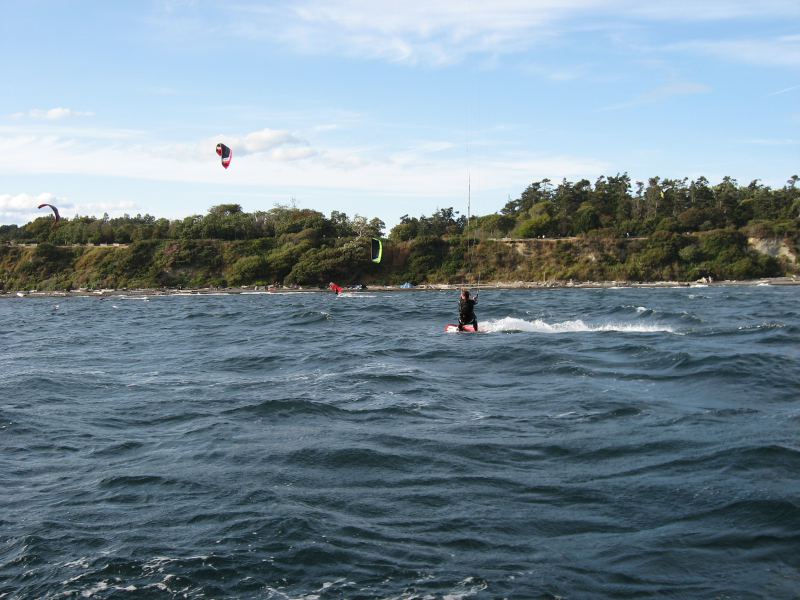
POLYGON ((798 272, 797 242, 732 230, 658 231, 647 238, 585 236, 387 241, 375 265, 358 239, 315 247, 304 240, 144 240, 120 246, 0 245, 0 289, 695 281, 798 272))

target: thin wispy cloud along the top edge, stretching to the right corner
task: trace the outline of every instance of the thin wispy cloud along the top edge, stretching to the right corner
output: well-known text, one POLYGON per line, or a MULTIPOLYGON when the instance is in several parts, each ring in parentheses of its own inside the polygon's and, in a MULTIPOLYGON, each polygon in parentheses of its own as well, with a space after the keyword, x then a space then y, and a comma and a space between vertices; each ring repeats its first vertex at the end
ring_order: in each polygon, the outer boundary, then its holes
MULTIPOLYGON (((230 7, 228 33, 278 40, 303 53, 444 66, 468 56, 529 50, 566 32, 617 31, 647 21, 800 17, 796 0, 300 0, 286 8, 230 7), (276 27, 276 24, 280 27, 276 27)), ((575 73, 553 73, 573 78, 575 73)))

